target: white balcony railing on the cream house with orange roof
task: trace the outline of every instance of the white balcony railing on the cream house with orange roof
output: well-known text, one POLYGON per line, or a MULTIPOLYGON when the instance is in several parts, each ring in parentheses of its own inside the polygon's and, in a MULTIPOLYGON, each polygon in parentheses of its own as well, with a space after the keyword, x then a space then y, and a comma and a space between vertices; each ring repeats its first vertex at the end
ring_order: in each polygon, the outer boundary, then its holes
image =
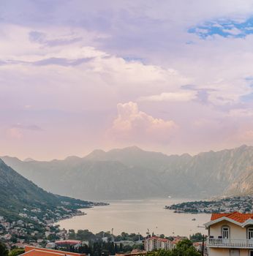
POLYGON ((222 248, 251 248, 251 249, 253 249, 253 239, 208 238, 207 246, 222 247, 222 248))

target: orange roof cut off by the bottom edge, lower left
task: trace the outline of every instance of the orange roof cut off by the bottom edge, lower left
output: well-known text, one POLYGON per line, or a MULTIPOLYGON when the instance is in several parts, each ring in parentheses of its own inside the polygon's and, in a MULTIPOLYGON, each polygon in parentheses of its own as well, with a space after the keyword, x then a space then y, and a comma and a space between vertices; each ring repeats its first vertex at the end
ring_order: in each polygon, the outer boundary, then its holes
POLYGON ((86 256, 86 255, 80 254, 80 253, 74 253, 74 252, 63 252, 55 249, 25 246, 25 252, 22 254, 22 256, 86 256))

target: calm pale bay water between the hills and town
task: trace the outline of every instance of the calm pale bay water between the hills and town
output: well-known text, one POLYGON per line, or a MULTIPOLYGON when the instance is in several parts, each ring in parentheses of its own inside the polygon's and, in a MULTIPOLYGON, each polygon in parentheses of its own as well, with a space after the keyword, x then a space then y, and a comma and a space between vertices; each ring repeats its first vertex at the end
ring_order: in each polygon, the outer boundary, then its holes
POLYGON ((110 206, 83 209, 87 215, 64 219, 57 224, 67 230, 88 229, 93 233, 113 228, 116 235, 123 231, 145 235, 148 229, 151 233, 165 236, 189 236, 197 232, 206 234, 203 223, 210 220, 210 214, 175 214, 164 208, 185 201, 173 198, 110 200, 110 206))

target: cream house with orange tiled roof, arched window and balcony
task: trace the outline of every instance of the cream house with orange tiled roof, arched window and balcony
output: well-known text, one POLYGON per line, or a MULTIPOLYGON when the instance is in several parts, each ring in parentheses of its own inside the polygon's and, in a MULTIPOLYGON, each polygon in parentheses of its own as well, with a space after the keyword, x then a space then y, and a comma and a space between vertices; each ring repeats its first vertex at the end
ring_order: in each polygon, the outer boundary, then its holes
POLYGON ((212 214, 205 227, 209 256, 253 256, 253 214, 212 214))

